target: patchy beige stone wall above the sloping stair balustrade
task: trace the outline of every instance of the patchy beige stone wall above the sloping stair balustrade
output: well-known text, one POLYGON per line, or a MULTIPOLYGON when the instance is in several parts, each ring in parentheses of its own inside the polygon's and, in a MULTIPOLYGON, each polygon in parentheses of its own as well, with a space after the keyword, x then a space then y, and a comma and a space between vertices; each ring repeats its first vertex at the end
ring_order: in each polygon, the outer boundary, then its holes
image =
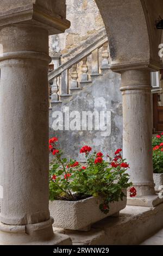
POLYGON ((62 61, 68 59, 66 54, 104 27, 95 0, 66 0, 66 4, 66 19, 71 21, 70 29, 64 34, 49 37, 50 56, 60 53, 62 61))

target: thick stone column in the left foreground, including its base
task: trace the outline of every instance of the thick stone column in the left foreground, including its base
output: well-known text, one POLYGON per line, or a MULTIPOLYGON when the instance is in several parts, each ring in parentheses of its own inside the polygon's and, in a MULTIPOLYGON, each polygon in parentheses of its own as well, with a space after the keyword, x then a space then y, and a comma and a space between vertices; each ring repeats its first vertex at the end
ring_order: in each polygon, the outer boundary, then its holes
POLYGON ((70 242, 54 235, 49 215, 47 73, 51 59, 48 27, 32 20, 5 20, 8 24, 0 29, 0 245, 70 242))

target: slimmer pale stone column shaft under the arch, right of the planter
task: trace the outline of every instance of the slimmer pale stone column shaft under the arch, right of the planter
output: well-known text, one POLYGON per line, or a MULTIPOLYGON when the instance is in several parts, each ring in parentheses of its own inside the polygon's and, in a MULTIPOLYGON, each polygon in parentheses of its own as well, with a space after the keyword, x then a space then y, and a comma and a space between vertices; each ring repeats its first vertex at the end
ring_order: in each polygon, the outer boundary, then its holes
POLYGON ((153 195, 151 76, 146 70, 122 71, 123 157, 137 196, 153 195))

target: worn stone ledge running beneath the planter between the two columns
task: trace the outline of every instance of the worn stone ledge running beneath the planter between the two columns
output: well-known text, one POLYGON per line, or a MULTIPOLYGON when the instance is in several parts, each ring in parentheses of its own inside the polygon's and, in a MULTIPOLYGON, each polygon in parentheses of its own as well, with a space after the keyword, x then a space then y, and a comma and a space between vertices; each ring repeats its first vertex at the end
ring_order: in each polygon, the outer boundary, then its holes
POLYGON ((128 205, 120 217, 108 217, 89 232, 54 229, 71 237, 73 245, 140 245, 163 227, 163 204, 155 208, 128 205))

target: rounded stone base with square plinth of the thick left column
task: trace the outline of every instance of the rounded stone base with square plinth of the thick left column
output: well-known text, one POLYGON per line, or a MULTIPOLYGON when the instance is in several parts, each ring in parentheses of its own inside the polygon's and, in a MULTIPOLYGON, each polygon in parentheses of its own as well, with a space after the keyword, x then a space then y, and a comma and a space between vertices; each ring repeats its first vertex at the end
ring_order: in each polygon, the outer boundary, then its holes
POLYGON ((69 236, 54 234, 53 219, 27 225, 6 225, 0 222, 0 245, 72 245, 69 236))

